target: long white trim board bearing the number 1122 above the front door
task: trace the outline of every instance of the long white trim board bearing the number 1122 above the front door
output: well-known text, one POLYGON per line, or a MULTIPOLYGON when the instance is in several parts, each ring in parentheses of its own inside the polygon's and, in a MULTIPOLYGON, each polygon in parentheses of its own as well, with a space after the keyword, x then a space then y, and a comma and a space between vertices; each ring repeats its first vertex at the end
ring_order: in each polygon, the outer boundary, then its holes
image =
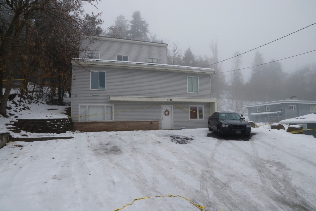
POLYGON ((216 98, 109 96, 109 101, 147 101, 147 102, 199 102, 199 103, 215 103, 215 102, 217 102, 217 99, 216 99, 216 98))

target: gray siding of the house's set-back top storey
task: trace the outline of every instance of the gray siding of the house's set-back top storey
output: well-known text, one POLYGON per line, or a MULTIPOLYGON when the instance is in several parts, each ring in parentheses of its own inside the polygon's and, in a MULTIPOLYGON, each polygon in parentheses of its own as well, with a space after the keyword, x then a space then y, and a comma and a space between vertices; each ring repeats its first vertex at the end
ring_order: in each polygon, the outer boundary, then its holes
POLYGON ((147 42, 128 42, 125 40, 99 40, 90 43, 82 41, 90 50, 100 54, 100 59, 117 60, 117 55, 128 56, 128 61, 148 62, 148 58, 158 59, 159 64, 167 64, 167 45, 155 46, 147 42))

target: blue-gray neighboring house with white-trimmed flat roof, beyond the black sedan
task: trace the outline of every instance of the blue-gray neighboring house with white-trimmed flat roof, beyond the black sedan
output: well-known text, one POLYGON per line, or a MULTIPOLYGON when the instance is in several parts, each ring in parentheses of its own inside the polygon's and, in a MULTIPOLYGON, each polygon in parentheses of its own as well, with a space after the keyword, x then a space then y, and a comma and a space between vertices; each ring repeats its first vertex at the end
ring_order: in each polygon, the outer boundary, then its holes
POLYGON ((267 103, 244 105, 248 109, 249 120, 253 122, 279 122, 316 112, 316 101, 279 100, 267 103))

